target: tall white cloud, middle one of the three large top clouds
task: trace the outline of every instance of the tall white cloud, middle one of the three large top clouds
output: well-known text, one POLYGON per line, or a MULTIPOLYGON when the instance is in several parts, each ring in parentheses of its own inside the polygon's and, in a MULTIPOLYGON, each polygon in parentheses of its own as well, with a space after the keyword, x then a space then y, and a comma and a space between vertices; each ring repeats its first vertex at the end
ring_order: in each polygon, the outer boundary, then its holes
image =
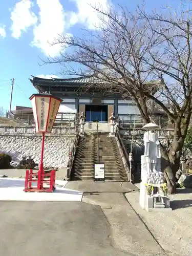
POLYGON ((59 34, 65 33, 65 13, 59 0, 37 0, 39 7, 38 26, 33 29, 33 46, 40 48, 46 55, 54 57, 61 50, 61 45, 51 44, 59 34))

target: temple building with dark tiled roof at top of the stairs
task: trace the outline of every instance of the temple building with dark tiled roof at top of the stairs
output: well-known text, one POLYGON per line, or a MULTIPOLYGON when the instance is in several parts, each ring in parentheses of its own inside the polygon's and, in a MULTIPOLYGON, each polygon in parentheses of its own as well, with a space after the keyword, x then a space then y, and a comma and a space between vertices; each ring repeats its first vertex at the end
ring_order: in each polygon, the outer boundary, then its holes
POLYGON ((94 76, 52 79, 32 76, 30 81, 39 93, 50 93, 62 99, 56 120, 62 119, 63 116, 73 117, 75 113, 83 111, 86 115, 86 122, 96 120, 108 122, 109 117, 114 113, 125 122, 143 123, 133 100, 123 100, 120 93, 111 93, 107 90, 104 93, 101 92, 103 81, 94 76), (84 89, 89 84, 90 90, 84 89))

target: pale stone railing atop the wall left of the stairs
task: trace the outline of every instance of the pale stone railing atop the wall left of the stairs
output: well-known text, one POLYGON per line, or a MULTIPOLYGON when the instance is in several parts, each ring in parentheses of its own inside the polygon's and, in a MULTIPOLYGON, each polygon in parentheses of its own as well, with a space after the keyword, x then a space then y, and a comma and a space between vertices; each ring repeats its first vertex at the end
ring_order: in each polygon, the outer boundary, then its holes
MULTIPOLYGON (((0 127, 0 135, 27 135, 36 134, 35 127, 0 127)), ((51 134, 75 134, 74 127, 54 127, 51 134)))

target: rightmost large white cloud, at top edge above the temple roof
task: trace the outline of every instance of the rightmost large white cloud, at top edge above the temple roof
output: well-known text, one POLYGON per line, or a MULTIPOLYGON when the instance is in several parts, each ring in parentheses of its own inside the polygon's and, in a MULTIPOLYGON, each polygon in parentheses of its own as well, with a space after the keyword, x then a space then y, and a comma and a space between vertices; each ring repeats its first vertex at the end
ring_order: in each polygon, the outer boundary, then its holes
POLYGON ((93 7, 107 11, 110 8, 110 0, 72 0, 76 3, 78 12, 72 13, 70 24, 84 24, 88 29, 95 29, 101 25, 101 14, 98 14, 93 7))

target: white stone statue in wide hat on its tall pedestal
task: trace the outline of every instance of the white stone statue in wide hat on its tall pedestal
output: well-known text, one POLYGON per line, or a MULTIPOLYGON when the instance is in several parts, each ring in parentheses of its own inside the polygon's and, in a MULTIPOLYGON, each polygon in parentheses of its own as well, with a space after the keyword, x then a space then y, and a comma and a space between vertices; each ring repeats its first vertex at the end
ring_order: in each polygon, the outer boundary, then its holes
POLYGON ((143 128, 147 131, 143 137, 144 156, 141 156, 140 206, 146 211, 172 210, 161 172, 160 143, 155 133, 159 126, 148 123, 143 128))

